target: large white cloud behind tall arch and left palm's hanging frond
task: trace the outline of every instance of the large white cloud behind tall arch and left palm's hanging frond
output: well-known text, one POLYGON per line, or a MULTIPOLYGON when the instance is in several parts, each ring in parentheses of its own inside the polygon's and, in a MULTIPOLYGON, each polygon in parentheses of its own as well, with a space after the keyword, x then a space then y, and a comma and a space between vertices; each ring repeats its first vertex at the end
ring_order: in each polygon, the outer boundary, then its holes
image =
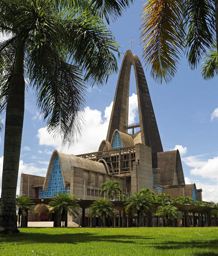
MULTIPOLYGON (((105 108, 104 116, 97 109, 86 107, 84 110, 84 123, 81 127, 81 137, 77 138, 72 147, 62 147, 61 138, 53 138, 48 134, 46 127, 38 130, 39 145, 51 146, 54 149, 68 154, 82 154, 97 151, 103 139, 106 139, 107 129, 111 118, 113 102, 105 108)), ((129 97, 129 123, 135 122, 137 96, 132 94, 129 97)), ((42 151, 40 151, 42 153, 42 151)))

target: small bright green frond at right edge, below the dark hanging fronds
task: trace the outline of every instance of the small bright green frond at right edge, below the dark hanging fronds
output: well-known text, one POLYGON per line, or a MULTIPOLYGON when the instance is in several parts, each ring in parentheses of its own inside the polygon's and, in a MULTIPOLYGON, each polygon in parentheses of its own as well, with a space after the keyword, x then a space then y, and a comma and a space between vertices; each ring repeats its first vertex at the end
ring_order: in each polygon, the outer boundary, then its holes
POLYGON ((204 80, 209 80, 218 75, 218 53, 216 44, 208 51, 201 66, 201 75, 204 80))

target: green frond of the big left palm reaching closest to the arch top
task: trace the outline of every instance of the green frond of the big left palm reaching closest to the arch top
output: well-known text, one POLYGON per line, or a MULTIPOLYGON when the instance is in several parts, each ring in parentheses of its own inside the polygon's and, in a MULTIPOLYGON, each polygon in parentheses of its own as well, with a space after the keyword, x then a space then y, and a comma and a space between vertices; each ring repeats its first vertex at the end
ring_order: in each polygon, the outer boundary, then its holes
POLYGON ((74 19, 66 18, 62 24, 61 43, 69 49, 69 59, 81 67, 86 82, 103 85, 118 70, 113 53, 118 52, 118 45, 112 32, 88 11, 74 19))

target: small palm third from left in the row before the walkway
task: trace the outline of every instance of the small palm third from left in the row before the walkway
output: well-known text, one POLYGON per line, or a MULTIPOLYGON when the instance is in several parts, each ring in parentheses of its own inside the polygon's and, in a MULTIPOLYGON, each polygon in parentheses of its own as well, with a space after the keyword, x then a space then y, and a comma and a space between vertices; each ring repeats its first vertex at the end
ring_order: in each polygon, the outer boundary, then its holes
POLYGON ((105 200, 101 198, 93 202, 90 206, 90 215, 92 217, 95 217, 96 215, 98 215, 102 219, 104 227, 105 227, 105 218, 106 217, 111 218, 114 216, 114 214, 115 214, 114 204, 109 200, 105 200))

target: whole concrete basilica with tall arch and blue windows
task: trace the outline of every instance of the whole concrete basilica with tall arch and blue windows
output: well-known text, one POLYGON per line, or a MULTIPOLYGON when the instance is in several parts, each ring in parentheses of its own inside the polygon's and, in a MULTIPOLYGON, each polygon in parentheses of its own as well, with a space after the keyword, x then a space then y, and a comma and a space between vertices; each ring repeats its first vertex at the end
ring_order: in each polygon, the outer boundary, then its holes
POLYGON ((202 189, 185 184, 179 151, 163 151, 143 67, 130 50, 121 65, 107 137, 98 151, 74 156, 55 150, 46 177, 21 174, 20 195, 44 199, 62 191, 97 200, 108 180, 118 180, 127 196, 150 188, 156 194, 202 201, 202 189), (134 124, 128 123, 131 66, 139 108, 139 123, 134 124))

